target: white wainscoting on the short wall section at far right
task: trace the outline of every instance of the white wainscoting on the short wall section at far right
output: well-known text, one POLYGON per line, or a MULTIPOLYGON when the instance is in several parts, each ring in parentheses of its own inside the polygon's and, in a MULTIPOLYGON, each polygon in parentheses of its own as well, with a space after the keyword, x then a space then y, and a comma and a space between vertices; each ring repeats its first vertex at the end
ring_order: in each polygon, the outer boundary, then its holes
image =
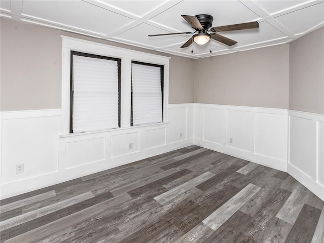
POLYGON ((324 115, 289 110, 288 173, 324 200, 324 115))

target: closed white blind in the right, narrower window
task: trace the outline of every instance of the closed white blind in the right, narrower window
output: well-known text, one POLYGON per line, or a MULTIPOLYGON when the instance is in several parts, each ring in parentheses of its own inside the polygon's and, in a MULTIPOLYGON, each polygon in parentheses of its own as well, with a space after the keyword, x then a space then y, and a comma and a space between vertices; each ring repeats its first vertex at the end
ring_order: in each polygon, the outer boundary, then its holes
POLYGON ((132 63, 133 125, 163 121, 161 68, 132 63))

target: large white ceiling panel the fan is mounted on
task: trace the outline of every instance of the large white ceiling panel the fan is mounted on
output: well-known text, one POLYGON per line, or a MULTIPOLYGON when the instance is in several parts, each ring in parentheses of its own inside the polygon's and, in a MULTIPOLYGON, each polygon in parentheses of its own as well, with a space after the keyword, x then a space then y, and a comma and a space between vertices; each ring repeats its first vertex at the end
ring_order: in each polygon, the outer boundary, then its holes
POLYGON ((155 16, 151 21, 181 32, 194 29, 181 15, 209 14, 214 17, 213 26, 255 21, 259 16, 239 1, 183 1, 155 16))

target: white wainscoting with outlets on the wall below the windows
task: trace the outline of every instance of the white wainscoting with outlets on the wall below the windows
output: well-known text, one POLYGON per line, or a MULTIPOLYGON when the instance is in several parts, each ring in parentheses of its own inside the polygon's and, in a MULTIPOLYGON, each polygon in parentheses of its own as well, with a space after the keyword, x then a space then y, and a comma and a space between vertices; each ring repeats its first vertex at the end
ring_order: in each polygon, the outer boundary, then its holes
POLYGON ((161 124, 62 136, 60 109, 1 112, 1 199, 192 145, 193 107, 168 105, 161 124))

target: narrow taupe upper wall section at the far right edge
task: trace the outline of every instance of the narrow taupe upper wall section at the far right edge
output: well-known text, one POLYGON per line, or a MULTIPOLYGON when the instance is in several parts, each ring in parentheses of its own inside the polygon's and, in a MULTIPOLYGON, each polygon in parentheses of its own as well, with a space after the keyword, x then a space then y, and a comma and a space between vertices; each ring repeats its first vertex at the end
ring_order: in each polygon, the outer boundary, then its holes
POLYGON ((290 44, 289 109, 324 114, 324 27, 290 44))

